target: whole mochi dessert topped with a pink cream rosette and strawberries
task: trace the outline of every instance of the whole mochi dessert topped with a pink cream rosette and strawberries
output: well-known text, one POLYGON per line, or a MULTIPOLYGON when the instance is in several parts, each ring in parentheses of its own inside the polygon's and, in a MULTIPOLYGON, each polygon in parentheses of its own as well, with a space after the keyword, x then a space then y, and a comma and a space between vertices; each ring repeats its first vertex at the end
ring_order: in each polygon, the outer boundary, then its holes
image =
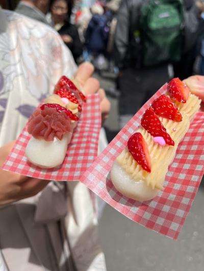
POLYGON ((65 158, 86 97, 69 78, 62 76, 54 94, 44 102, 29 119, 28 132, 32 137, 25 155, 36 166, 54 168, 65 158))

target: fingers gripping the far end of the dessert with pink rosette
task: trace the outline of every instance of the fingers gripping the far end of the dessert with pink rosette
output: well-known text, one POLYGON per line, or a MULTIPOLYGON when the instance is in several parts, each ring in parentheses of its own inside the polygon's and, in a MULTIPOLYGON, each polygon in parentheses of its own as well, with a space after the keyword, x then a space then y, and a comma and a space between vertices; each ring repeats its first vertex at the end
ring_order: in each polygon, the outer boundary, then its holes
POLYGON ((81 64, 75 74, 75 80, 82 88, 85 95, 98 93, 100 96, 100 110, 102 117, 102 124, 108 118, 111 103, 106 97, 106 93, 103 89, 100 89, 100 84, 96 78, 91 77, 94 71, 94 67, 89 62, 81 64))

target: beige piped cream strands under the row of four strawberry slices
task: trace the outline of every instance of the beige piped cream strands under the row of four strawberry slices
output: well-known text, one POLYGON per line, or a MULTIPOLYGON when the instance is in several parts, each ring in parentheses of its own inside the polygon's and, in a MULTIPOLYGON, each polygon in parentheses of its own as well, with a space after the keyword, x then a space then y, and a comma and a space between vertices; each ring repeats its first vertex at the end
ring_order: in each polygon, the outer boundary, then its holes
POLYGON ((130 175, 131 179, 134 179, 135 181, 142 180, 153 189, 163 188, 163 182, 168 171, 168 166, 171 164, 175 156, 177 146, 188 131, 191 120, 198 112, 200 102, 201 101, 197 96, 190 94, 186 103, 176 103, 176 106, 182 114, 183 119, 181 122, 175 122, 159 117, 160 121, 174 141, 174 146, 160 146, 152 140, 152 136, 142 126, 139 127, 137 132, 141 132, 148 146, 151 160, 151 172, 148 173, 143 170, 135 161, 129 150, 125 148, 116 160, 126 173, 130 175))

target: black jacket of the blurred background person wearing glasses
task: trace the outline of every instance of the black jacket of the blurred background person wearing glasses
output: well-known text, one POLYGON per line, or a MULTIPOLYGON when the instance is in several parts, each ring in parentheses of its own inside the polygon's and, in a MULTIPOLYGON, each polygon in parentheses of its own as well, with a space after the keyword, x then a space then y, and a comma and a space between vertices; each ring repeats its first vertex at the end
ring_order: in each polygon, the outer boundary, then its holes
POLYGON ((79 37, 77 26, 71 24, 69 21, 66 21, 66 23, 61 27, 58 33, 60 35, 69 35, 72 38, 72 42, 65 44, 72 52, 73 58, 76 61, 83 52, 83 45, 79 37))

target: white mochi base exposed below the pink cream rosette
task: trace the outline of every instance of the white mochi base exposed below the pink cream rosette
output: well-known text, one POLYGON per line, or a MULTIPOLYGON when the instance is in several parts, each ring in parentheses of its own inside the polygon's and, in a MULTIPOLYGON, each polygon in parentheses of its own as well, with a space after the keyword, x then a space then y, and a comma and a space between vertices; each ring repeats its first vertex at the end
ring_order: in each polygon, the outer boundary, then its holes
POLYGON ((31 137, 25 155, 32 164, 40 168, 54 168, 62 164, 67 152, 67 145, 71 141, 72 133, 66 133, 62 140, 45 141, 31 137))

